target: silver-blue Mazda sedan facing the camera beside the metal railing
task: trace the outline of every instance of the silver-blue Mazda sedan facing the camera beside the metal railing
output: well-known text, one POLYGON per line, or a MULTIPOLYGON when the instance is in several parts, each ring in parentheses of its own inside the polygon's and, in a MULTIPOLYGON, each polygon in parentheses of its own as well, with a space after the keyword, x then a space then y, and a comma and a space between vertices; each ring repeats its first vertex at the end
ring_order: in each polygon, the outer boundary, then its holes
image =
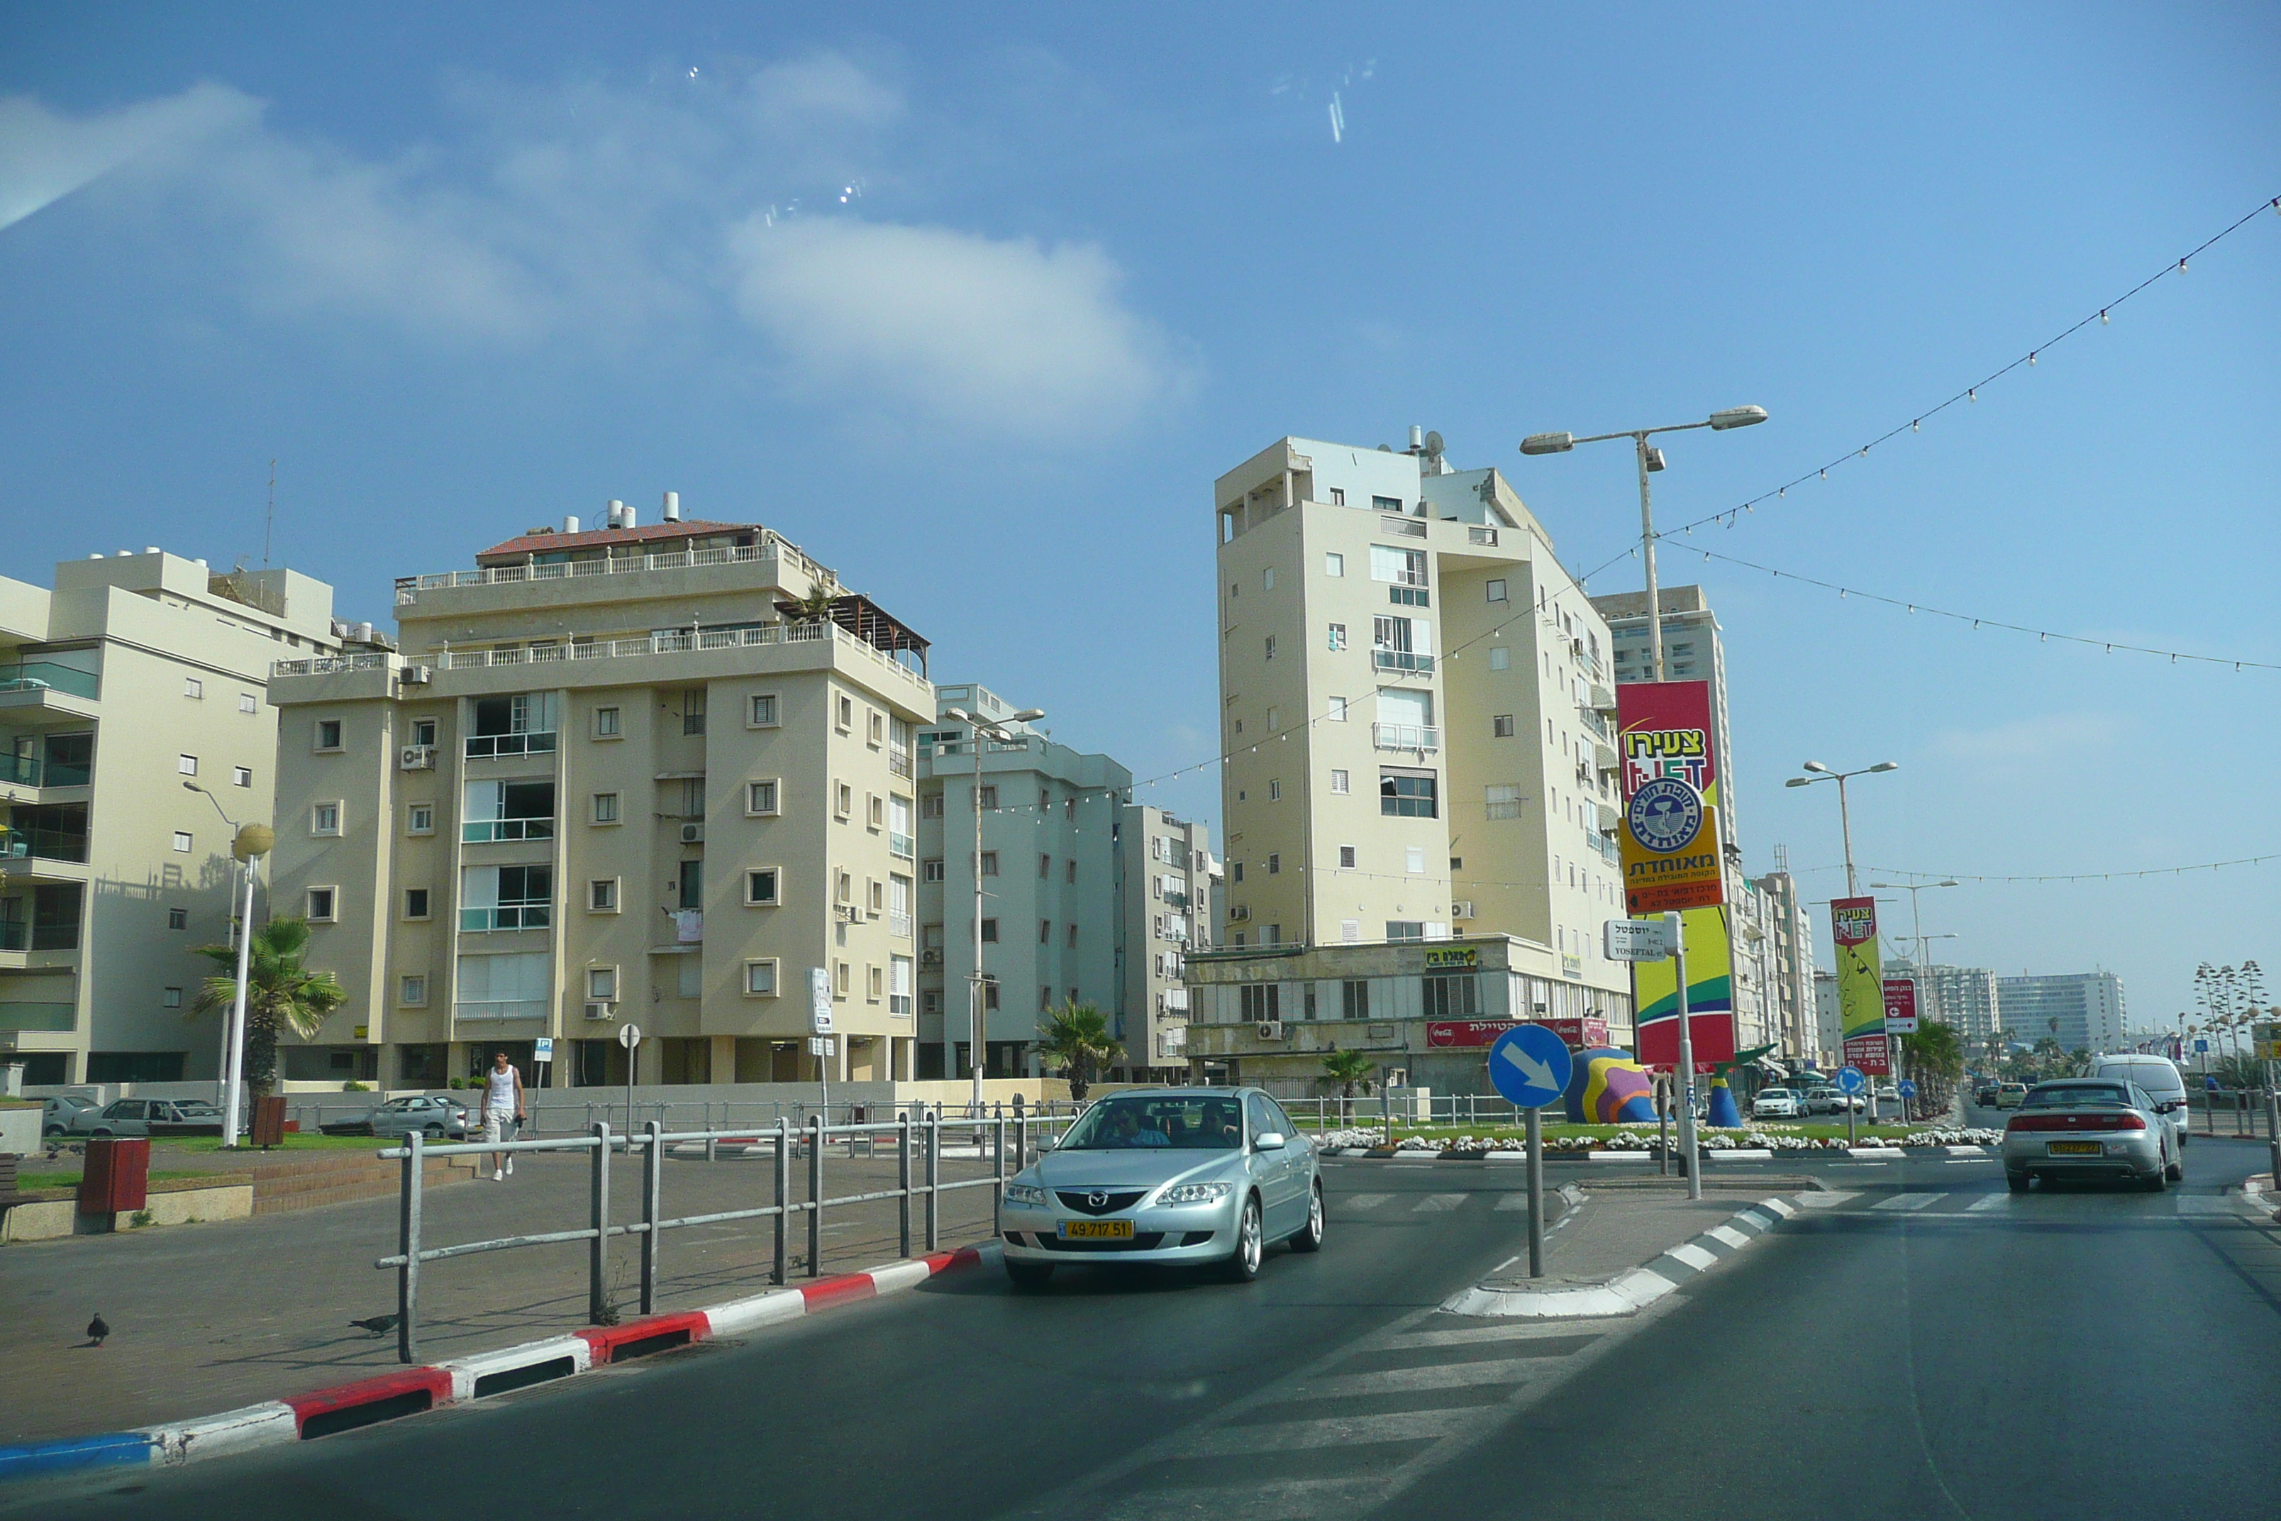
POLYGON ((1257 1088, 1134 1088, 1088 1108, 1006 1184, 1006 1275, 1077 1263, 1207 1263, 1234 1282, 1266 1247, 1323 1245, 1314 1142, 1257 1088))

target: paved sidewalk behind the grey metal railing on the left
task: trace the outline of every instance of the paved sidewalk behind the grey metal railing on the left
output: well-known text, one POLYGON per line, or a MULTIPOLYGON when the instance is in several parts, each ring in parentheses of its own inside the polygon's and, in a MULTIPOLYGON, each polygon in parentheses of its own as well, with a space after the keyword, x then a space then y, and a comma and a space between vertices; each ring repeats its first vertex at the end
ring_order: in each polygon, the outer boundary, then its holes
MULTIPOLYGON (((379 1142, 374 1142, 379 1147, 379 1142)), ((988 1161, 947 1158, 942 1181, 988 1177, 988 1161)), ((525 1154, 516 1177, 427 1195, 429 1247, 586 1225, 584 1156, 525 1154)), ((611 1218, 641 1209, 641 1158, 611 1165, 611 1218)), ((826 1197, 894 1186, 894 1161, 826 1154, 826 1197)), ((668 1156, 668 1215, 769 1204, 776 1161, 707 1163, 668 1156)), ((792 1197, 807 1188, 794 1165, 792 1197)), ((912 1243, 924 1247, 924 1202, 912 1202, 912 1243)), ((659 1243, 657 1309, 693 1309, 769 1286, 771 1220, 668 1231, 659 1243)), ((942 1245, 988 1241, 992 1190, 942 1195, 942 1245)), ((823 1272, 899 1256, 896 1202, 826 1211, 823 1272)), ((287 1215, 182 1225, 119 1236, 68 1236, 0 1247, 0 1361, 16 1389, 0 1412, 0 1441, 39 1441, 212 1414, 258 1400, 390 1373, 395 1336, 367 1336, 351 1318, 397 1307, 395 1272, 372 1266, 397 1250, 397 1202, 358 1199, 287 1215), (100 1313, 112 1336, 82 1345, 100 1313)), ((586 1325, 586 1243, 486 1252, 422 1270, 422 1359, 465 1357, 586 1325)), ((787 1238, 792 1282, 807 1272, 807 1225, 787 1238)), ((614 1238, 611 1298, 639 1313, 636 1238, 614 1238)))

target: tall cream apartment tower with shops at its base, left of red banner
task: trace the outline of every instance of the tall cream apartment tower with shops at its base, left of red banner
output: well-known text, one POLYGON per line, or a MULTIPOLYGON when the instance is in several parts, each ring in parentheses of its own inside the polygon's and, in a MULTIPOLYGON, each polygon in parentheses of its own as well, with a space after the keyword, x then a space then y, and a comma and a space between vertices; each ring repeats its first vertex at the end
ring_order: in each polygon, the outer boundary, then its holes
POLYGON ((1403 1051, 1528 1015, 1629 1038, 1629 971, 1599 955, 1624 912, 1608 627, 1512 486, 1417 431, 1284 438, 1213 511, 1227 910, 1188 960, 1191 1067, 1314 1083, 1337 1042, 1476 1090, 1478 1051, 1403 1051), (1375 978, 1417 999, 1321 992, 1375 978))

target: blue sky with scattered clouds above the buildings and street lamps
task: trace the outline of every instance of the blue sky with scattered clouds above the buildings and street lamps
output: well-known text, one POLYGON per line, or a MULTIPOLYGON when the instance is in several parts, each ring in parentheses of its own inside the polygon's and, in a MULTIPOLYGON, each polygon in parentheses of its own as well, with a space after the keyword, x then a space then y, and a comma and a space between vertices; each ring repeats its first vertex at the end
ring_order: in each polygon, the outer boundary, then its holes
MULTIPOLYGON (((2263 5, 0 5, 0 572, 260 563, 276 461, 269 559, 385 623, 677 490, 1218 832, 1220 472, 1430 426, 1631 591, 1622 445, 1519 440, 1756 404, 1656 477, 1750 871, 1843 889, 1804 759, 1900 762, 1864 882, 2281 853, 2281 214, 2174 269, 2281 194, 2274 57, 2263 5)), ((1923 894, 2144 1026, 2281 983, 2276 910, 2281 857, 1923 894)))

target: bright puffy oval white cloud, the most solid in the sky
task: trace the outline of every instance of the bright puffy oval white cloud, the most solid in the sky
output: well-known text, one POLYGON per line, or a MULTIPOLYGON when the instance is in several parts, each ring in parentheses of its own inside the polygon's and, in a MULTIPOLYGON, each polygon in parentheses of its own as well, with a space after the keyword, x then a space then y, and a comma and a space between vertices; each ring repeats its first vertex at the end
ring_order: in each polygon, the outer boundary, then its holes
POLYGON ((810 379, 963 426, 1122 424, 1177 388, 1093 244, 880 221, 748 219, 737 306, 810 379))

